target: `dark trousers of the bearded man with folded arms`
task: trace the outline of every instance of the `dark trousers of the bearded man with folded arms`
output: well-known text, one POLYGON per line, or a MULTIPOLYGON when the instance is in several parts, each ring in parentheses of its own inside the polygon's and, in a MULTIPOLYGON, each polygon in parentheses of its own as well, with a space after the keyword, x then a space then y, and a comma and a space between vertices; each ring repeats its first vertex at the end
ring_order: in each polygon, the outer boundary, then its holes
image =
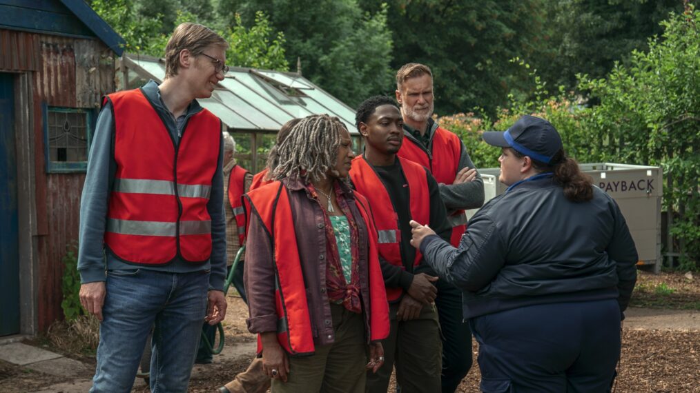
POLYGON ((435 306, 442 338, 442 393, 454 393, 472 367, 472 332, 463 322, 462 292, 437 280, 435 306))

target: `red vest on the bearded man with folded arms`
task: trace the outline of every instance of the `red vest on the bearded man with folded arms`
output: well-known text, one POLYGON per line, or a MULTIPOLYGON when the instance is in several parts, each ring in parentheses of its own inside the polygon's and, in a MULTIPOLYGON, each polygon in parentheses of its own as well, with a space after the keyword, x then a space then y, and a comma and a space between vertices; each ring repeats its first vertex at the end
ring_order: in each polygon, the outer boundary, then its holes
MULTIPOLYGON (((462 154, 462 143, 454 133, 442 127, 435 129, 431 151, 427 152, 411 138, 403 138, 403 143, 398 156, 417 162, 430 170, 430 174, 437 180, 437 183, 452 184, 454 177, 459 171, 459 159, 462 154)), ((453 215, 464 214, 464 210, 457 210, 453 215)), ((464 234, 465 225, 452 227, 450 243, 454 247, 459 245, 459 241, 464 234)))

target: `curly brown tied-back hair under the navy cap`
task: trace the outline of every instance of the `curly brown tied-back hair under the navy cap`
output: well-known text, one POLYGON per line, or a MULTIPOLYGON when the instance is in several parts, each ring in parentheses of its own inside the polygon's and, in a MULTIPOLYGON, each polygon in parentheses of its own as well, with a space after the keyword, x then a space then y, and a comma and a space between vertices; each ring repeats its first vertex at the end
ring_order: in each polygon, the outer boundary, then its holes
MULTIPOLYGON (((525 155, 515 149, 510 149, 516 157, 525 155)), ((532 157, 530 157, 532 158, 532 157)), ((575 159, 568 157, 563 149, 559 149, 552 157, 552 164, 545 164, 536 159, 532 160, 532 166, 538 173, 554 173, 554 183, 564 190, 564 197, 572 202, 585 202, 593 199, 593 180, 591 176, 583 173, 575 159)))

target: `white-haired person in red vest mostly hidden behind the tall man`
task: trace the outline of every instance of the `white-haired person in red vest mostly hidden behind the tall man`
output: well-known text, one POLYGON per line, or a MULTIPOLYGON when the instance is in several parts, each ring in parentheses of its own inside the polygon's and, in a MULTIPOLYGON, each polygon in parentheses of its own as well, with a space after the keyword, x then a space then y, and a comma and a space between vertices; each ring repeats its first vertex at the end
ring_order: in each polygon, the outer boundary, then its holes
MULTIPOLYGON (((224 131, 223 138, 223 192, 225 195, 223 201, 223 211, 226 216, 226 267, 230 273, 233 261, 238 254, 238 250, 245 244, 245 222, 243 215, 243 206, 241 197, 251 187, 253 175, 237 164, 235 159, 236 141, 234 141, 228 131, 224 131)), ((239 274, 233 276, 233 286, 241 295, 243 301, 246 301, 246 292, 243 288, 243 264, 245 255, 241 255, 236 270, 239 274)), ((202 333, 207 337, 209 345, 200 340, 200 349, 197 351, 195 363, 209 364, 213 357, 211 354, 211 345, 214 345, 216 340, 216 325, 212 326, 209 323, 202 325, 202 333)))

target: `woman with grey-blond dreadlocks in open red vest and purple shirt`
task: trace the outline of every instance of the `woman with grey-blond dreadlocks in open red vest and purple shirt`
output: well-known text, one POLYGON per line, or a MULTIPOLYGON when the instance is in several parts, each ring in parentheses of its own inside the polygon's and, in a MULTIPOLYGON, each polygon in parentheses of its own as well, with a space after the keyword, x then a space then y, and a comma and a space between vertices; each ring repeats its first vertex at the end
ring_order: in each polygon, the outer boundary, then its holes
POLYGON ((361 393, 384 363, 388 303, 369 206, 346 183, 351 144, 336 117, 305 117, 276 146, 274 181, 244 197, 248 330, 275 393, 361 393))

